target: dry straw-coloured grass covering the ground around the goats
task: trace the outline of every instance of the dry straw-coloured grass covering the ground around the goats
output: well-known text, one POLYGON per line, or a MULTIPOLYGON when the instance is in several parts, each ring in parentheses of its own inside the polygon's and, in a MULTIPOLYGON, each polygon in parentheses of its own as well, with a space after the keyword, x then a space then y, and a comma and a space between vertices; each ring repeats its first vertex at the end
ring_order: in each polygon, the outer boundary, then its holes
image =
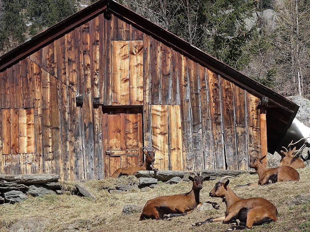
MULTIPOLYGON (((288 200, 310 193, 308 177, 310 168, 298 170, 299 182, 275 183, 268 186, 234 187, 236 184, 256 183, 257 175, 243 174, 232 179, 230 187, 242 198, 263 197, 271 201, 278 209, 279 217, 275 223, 264 226, 255 226, 252 231, 301 231, 309 232, 310 227, 310 204, 302 204, 290 207, 288 200)), ((211 199, 209 191, 217 181, 204 182, 201 190, 201 202, 207 200, 216 201, 220 204, 220 210, 212 209, 201 212, 195 210, 193 213, 166 220, 144 220, 139 221, 139 214, 130 216, 122 215, 125 204, 145 204, 148 199, 160 195, 173 195, 188 192, 191 182, 182 182, 173 185, 161 185, 148 192, 140 192, 136 189, 122 194, 109 194, 102 191, 103 187, 114 187, 121 183, 137 183, 135 177, 108 179, 104 181, 89 181, 86 187, 97 196, 93 201, 89 198, 70 194, 47 195, 45 197, 29 197, 21 203, 0 206, 0 231, 7 232, 8 228, 16 221, 24 217, 47 217, 49 222, 44 231, 60 232, 68 224, 74 224, 80 228, 79 231, 225 231, 229 226, 221 222, 207 223, 200 227, 192 227, 192 222, 203 221, 209 217, 220 217, 224 214, 226 206, 219 198, 211 199), (106 220, 103 220, 106 218, 106 220), (87 230, 88 225, 97 223, 97 227, 87 230)), ((62 183, 67 191, 74 190, 74 183, 62 183)))

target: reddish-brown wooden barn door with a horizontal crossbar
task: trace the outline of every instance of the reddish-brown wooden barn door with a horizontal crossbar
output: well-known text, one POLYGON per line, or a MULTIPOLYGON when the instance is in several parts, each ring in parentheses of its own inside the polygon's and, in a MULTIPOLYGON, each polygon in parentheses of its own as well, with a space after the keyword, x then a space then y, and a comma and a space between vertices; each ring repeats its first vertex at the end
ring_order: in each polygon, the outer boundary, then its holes
POLYGON ((142 114, 104 114, 104 176, 118 168, 141 165, 142 114))

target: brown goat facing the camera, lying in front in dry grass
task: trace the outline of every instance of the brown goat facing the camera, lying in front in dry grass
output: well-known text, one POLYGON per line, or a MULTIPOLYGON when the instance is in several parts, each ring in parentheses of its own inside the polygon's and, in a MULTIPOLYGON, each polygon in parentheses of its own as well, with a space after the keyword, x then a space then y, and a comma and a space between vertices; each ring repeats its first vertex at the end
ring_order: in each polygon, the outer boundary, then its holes
MULTIPOLYGON (((210 176, 202 176, 201 173, 198 176, 196 172, 192 172, 191 174, 195 175, 195 177, 188 177, 193 182, 191 191, 184 194, 160 196, 148 200, 144 205, 140 220, 149 218, 156 220, 171 219, 171 217, 184 216, 192 213, 194 209, 199 208, 202 205, 199 201, 202 183, 205 180, 209 180, 210 176)), ((214 208, 218 209, 219 204, 213 202, 207 203, 212 204, 214 208)))

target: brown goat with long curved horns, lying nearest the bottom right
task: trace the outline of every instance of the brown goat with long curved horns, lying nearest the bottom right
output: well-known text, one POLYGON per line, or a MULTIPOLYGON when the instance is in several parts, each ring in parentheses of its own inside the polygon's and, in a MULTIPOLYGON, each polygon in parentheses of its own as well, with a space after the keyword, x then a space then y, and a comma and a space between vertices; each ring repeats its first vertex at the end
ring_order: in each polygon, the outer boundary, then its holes
POLYGON ((241 230, 277 221, 277 208, 270 201, 260 197, 239 198, 228 187, 229 179, 225 183, 223 182, 227 178, 234 177, 222 177, 209 193, 210 197, 221 197, 223 199, 226 204, 225 216, 192 223, 193 226, 200 226, 207 222, 223 221, 224 224, 235 224, 228 230, 241 230))

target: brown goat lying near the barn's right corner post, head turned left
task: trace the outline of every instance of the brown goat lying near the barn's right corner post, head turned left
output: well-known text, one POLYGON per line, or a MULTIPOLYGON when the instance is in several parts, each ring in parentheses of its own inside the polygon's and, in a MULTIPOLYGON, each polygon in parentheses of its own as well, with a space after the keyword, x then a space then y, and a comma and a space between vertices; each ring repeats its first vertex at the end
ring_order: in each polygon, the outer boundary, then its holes
MULTIPOLYGON (((294 168, 290 166, 280 166, 277 168, 266 168, 263 163, 262 159, 266 156, 261 158, 253 157, 250 159, 249 167, 254 168, 256 173, 258 174, 259 181, 257 184, 249 183, 246 185, 264 185, 282 181, 294 181, 299 180, 299 173, 294 168)), ((246 185, 237 185, 238 187, 246 186, 246 185)))

